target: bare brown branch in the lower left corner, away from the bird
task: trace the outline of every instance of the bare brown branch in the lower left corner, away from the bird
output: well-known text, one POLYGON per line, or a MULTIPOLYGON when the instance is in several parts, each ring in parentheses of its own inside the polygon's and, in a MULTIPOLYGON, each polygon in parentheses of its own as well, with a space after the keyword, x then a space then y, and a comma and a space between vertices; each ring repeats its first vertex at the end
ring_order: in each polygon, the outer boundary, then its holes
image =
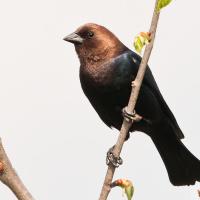
POLYGON ((15 194, 18 200, 34 200, 6 155, 0 139, 0 181, 7 185, 15 194))

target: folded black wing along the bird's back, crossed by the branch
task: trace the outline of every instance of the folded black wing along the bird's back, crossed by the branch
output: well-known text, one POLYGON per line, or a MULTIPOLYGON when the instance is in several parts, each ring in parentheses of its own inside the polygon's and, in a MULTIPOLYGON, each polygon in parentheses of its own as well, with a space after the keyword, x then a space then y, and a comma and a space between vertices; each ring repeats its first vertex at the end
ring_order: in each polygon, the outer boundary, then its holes
MULTIPOLYGON (((130 52, 131 53, 129 54, 130 55, 129 59, 132 59, 132 63, 134 65, 134 67, 136 67, 138 70, 139 64, 141 62, 141 57, 132 51, 130 51, 130 52)), ((178 138, 183 139, 184 135, 183 135, 173 113, 171 112, 167 103, 165 102, 149 67, 147 67, 147 70, 146 70, 146 73, 144 76, 144 80, 143 80, 143 84, 145 86, 147 86, 151 90, 151 92, 155 95, 155 97, 157 98, 163 113, 165 114, 165 116, 167 116, 169 121, 172 123, 178 138)))

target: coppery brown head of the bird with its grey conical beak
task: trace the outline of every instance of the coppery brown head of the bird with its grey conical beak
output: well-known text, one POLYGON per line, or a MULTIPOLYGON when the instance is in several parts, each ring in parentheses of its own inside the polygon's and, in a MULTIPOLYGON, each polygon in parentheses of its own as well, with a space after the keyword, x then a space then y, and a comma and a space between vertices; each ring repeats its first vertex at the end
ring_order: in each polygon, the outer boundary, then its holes
POLYGON ((75 45, 80 62, 98 62, 120 54, 125 46, 108 29, 88 23, 64 38, 75 45))

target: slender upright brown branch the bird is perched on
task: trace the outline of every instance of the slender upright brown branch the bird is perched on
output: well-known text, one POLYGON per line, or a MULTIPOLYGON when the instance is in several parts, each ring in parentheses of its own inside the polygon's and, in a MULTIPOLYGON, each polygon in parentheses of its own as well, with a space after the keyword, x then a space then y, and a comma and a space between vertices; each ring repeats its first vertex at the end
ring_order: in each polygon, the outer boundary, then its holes
MULTIPOLYGON (((149 33, 151 34, 151 36, 150 36, 151 41, 145 48, 144 55, 143 55, 142 61, 139 66, 137 76, 132 84, 132 91, 131 91, 131 95, 130 95, 128 106, 127 106, 128 113, 132 113, 135 109, 139 91, 140 91, 142 81, 143 81, 143 78, 145 75, 145 71, 147 68, 147 63, 149 61, 149 57, 150 57, 151 51, 153 49, 153 44, 154 44, 156 29, 157 29, 157 25, 158 25, 159 14, 160 14, 156 10, 157 3, 158 3, 158 0, 156 0, 156 3, 155 3, 154 13, 153 13, 152 21, 151 21, 151 27, 149 30, 149 33)), ((132 124, 133 124, 132 121, 127 121, 126 119, 123 120, 123 124, 122 124, 121 130, 120 130, 120 134, 118 136, 117 143, 115 145, 115 148, 113 149, 113 154, 116 157, 120 156, 123 144, 125 142, 126 135, 128 134, 129 129, 131 128, 132 124)), ((110 193, 110 190, 111 190, 110 184, 112 183, 114 173, 115 173, 115 167, 112 164, 110 164, 108 166, 108 169, 106 172, 106 176, 105 176, 105 180, 104 180, 104 184, 103 184, 103 187, 101 190, 99 200, 107 199, 107 197, 110 193)))

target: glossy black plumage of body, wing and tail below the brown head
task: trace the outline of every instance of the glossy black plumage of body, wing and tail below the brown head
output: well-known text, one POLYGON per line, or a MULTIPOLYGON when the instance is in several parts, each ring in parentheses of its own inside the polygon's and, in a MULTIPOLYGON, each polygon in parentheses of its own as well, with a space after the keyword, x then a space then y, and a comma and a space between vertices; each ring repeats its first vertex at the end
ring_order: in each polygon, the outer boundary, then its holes
MULTIPOLYGON (((104 76, 105 82, 102 84, 95 84, 80 70, 84 93, 109 127, 118 130, 121 128, 121 110, 128 103, 131 81, 137 74, 140 61, 137 54, 126 50, 104 63, 109 68, 109 75, 104 76)), ((200 161, 180 141, 184 135, 162 97, 149 67, 140 90, 136 112, 148 122, 142 120, 134 123, 131 131, 142 131, 152 138, 165 163, 170 182, 180 186, 193 185, 195 181, 200 181, 200 161)))

